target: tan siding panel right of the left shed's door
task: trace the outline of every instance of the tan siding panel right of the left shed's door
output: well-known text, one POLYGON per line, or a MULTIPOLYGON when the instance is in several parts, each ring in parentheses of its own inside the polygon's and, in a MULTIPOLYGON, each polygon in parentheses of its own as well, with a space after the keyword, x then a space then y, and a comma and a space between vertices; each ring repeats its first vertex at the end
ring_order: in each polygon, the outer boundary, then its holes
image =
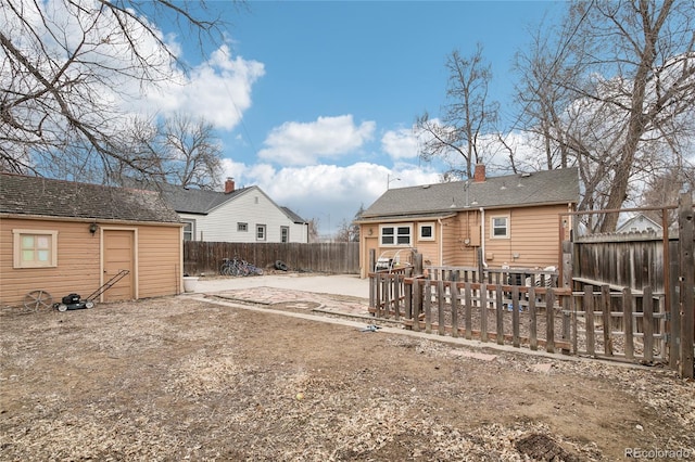
POLYGON ((138 230, 138 296, 173 295, 181 291, 178 228, 140 227, 138 230))

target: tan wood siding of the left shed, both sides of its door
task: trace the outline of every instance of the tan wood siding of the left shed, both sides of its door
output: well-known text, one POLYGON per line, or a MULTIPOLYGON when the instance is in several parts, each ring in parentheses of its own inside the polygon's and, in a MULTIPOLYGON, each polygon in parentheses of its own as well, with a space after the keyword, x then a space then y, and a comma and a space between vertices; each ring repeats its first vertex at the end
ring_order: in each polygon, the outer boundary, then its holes
MULTIPOLYGON (((17 306, 35 290, 48 291, 53 301, 77 293, 89 296, 105 281, 102 272, 102 228, 91 234, 89 222, 42 219, 0 219, 0 305, 17 306), (58 267, 13 268, 13 229, 58 231, 58 267)), ((137 229, 136 284, 138 297, 180 292, 180 227, 108 226, 137 229)))

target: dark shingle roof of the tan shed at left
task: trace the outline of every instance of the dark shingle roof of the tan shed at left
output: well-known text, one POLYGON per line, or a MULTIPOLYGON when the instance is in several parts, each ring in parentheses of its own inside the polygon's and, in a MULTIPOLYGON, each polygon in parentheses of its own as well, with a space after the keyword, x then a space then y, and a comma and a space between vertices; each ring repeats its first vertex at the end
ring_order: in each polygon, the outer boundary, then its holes
POLYGON ((157 192, 0 174, 0 213, 179 222, 157 192))

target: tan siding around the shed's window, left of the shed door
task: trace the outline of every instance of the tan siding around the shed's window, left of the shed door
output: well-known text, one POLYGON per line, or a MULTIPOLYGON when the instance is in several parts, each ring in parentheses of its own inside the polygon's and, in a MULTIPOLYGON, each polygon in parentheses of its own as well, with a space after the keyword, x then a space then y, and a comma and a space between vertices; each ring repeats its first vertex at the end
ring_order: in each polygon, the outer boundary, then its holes
POLYGON ((54 301, 77 293, 87 297, 100 285, 99 236, 89 232, 86 222, 43 220, 0 220, 0 304, 21 305, 35 290, 48 291, 54 301), (12 230, 56 230, 56 268, 13 268, 12 230))

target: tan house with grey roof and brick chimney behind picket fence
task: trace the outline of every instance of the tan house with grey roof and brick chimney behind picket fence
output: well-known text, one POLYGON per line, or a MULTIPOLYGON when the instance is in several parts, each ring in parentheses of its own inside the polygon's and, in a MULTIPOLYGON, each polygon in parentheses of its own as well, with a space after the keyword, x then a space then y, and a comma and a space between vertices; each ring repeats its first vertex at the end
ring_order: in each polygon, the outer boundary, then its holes
POLYGON ((390 189, 358 221, 362 277, 372 249, 391 266, 413 248, 431 266, 559 266, 571 230, 561 214, 578 201, 577 168, 486 178, 477 165, 469 181, 390 189))

